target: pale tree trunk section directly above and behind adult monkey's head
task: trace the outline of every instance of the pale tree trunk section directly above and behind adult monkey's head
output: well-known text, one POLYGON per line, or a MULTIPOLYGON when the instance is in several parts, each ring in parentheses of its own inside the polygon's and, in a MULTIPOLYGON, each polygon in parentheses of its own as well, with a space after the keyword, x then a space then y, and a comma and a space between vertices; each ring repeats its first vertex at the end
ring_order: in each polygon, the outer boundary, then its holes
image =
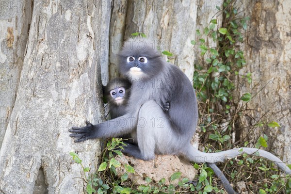
POLYGON ((133 32, 155 39, 162 51, 173 53, 170 62, 193 81, 195 57, 191 40, 195 39, 196 1, 129 1, 127 10, 125 39, 133 32))

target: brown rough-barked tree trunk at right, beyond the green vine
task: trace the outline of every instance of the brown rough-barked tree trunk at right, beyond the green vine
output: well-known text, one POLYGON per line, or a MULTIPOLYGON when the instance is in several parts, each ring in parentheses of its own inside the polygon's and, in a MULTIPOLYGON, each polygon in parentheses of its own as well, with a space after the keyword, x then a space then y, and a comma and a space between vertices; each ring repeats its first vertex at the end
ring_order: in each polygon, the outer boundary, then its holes
MULTIPOLYGON (((250 92, 253 96, 258 93, 247 104, 250 111, 244 121, 255 124, 262 117, 278 122, 281 128, 267 127, 264 131, 269 137, 268 147, 291 163, 291 2, 242 2, 243 14, 250 20, 244 42, 247 65, 241 73, 251 72, 253 82, 242 83, 238 92, 250 92)), ((256 143, 259 135, 246 128, 242 138, 256 143)))

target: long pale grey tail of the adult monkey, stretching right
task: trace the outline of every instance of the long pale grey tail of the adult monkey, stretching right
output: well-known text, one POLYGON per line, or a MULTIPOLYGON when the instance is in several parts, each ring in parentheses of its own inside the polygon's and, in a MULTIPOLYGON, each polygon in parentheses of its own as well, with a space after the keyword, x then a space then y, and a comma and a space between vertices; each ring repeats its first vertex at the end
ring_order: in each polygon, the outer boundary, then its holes
POLYGON ((278 157, 271 154, 270 152, 264 151, 262 149, 250 148, 250 147, 239 147, 234 149, 229 149, 226 151, 216 152, 216 153, 205 153, 195 149, 192 145, 188 146, 186 150, 185 157, 188 158, 192 162, 196 163, 216 163, 216 162, 224 162, 226 159, 234 158, 243 153, 247 153, 249 155, 260 156, 266 158, 270 161, 275 162, 275 164, 286 174, 291 174, 291 169, 278 157))

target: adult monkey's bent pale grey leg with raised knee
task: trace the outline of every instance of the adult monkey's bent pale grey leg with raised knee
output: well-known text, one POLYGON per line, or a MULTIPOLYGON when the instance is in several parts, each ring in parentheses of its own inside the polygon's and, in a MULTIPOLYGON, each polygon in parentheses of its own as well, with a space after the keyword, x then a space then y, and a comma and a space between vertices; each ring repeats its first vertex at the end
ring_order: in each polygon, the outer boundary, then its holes
POLYGON ((180 137, 174 134, 169 117, 157 102, 144 103, 138 114, 137 142, 143 160, 152 160, 157 154, 177 154, 180 137))

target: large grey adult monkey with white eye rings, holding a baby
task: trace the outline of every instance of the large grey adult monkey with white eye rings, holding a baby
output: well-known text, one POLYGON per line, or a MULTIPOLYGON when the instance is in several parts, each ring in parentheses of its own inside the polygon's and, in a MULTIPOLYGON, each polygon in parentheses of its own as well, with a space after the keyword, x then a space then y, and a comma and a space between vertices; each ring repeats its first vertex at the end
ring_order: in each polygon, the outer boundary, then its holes
POLYGON ((129 144, 124 152, 142 160, 154 159, 157 153, 182 155, 197 163, 215 163, 244 152, 259 153, 291 174, 284 162, 264 150, 243 147, 204 153, 195 149, 190 140, 195 132, 198 109, 193 86, 186 75, 177 66, 165 62, 149 40, 129 39, 118 57, 120 72, 132 83, 127 113, 97 125, 86 121, 85 127, 72 127, 70 137, 77 138, 75 142, 131 133, 138 146, 129 144), (155 83, 161 81, 162 86, 157 87, 155 83), (171 105, 168 112, 161 108, 166 101, 171 105), (157 125, 161 119, 162 126, 157 125))

